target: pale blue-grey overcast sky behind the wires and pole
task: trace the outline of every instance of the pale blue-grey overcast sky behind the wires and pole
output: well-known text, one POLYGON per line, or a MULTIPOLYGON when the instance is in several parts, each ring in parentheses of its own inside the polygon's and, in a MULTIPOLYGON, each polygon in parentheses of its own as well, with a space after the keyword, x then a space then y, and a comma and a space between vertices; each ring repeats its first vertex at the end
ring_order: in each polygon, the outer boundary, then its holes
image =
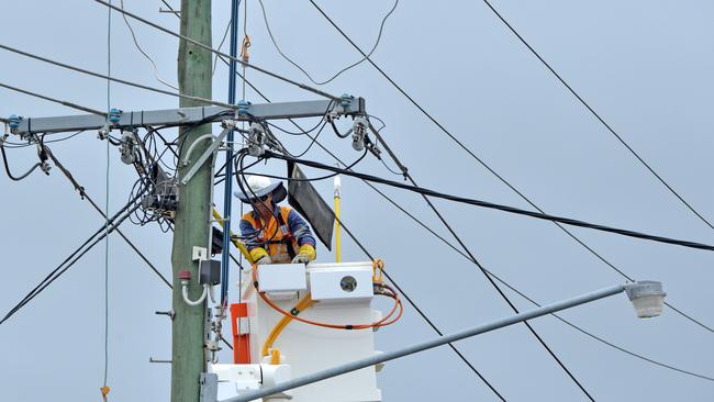
MULTIPOLYGON (((280 57, 256 0, 241 10, 250 35, 250 62, 308 83, 280 57)), ((116 2, 116 1, 114 1, 116 2)), ((178 7, 178 1, 169 0, 178 7)), ((127 10, 178 32, 178 19, 159 13, 160 1, 126 0, 127 10)), ((319 2, 362 48, 370 48, 390 1, 319 2)), ((359 54, 306 1, 265 0, 276 40, 317 79, 359 59, 359 54)), ((594 110, 691 205, 714 219, 711 149, 714 103, 714 27, 709 1, 493 1, 510 23, 594 110)), ((231 2, 213 1, 213 44, 221 41, 231 2)), ((89 0, 4 1, 0 43, 100 72, 107 71, 107 8, 89 0), (23 18, 24 16, 24 18, 23 18), (27 18, 31 16, 31 18, 27 18)), ((132 21, 137 40, 156 60, 159 76, 176 82, 178 42, 132 21)), ((163 87, 135 48, 124 21, 111 20, 112 75, 163 87)), ((386 23, 372 59, 454 136, 546 212, 677 238, 714 243, 714 231, 672 196, 507 31, 482 1, 402 1, 386 23)), ((317 97, 248 71, 272 101, 317 97)), ((0 51, 0 81, 107 108, 107 82, 0 51)), ((164 87, 165 88, 165 87, 164 87)), ((166 88, 165 88, 166 89, 166 88)), ((428 121, 368 64, 322 87, 366 99, 381 118, 386 141, 423 187, 532 209, 428 121)), ((0 89, 0 116, 81 112, 0 89)), ((243 98, 243 96, 239 96, 243 98)), ((219 65, 213 99, 227 99, 227 69, 219 65)), ((261 100, 247 90, 245 99, 261 100)), ((176 108, 176 98, 112 85, 110 103, 124 111, 176 108)), ((314 122, 305 121, 303 126, 314 122)), ((344 124, 344 122, 343 122, 344 124)), ((214 126, 217 134, 219 126, 214 126)), ((175 135, 175 132, 170 132, 175 135)), ((289 149, 304 137, 281 137, 289 149)), ((341 158, 358 155, 348 139, 326 131, 321 142, 341 158)), ((52 149, 87 192, 105 202, 105 143, 82 133, 52 149)), ((8 149, 13 172, 36 161, 35 150, 8 149)), ((313 147, 306 158, 333 164, 313 147)), ((127 200, 136 174, 109 155, 109 205, 127 200)), ((389 164, 389 161, 388 161, 389 164)), ((391 165, 390 165, 391 166, 391 165)), ((283 172, 278 163, 261 168, 283 172)), ((372 157, 359 171, 397 179, 372 157)), ((320 172, 305 169, 308 175, 320 172)), ((332 180, 315 183, 330 202, 332 180)), ((0 177, 4 252, 0 308, 9 310, 103 224, 57 169, 23 181, 0 177)), ((383 188, 435 232, 453 237, 411 192, 383 188)), ((362 182, 343 178, 343 220, 402 289, 444 333, 512 313, 477 267, 399 212, 362 182)), ((215 200, 222 200, 222 187, 215 200)), ((538 302, 557 301, 624 281, 554 224, 436 200, 468 248, 489 270, 538 302)), ((220 203, 219 203, 220 205, 220 203)), ((234 203, 237 208, 237 202, 234 203)), ((222 208, 222 205, 220 205, 222 208)), ((170 277, 171 237, 155 225, 129 222, 122 231, 170 277)), ((667 300, 714 325, 710 291, 714 255, 672 245, 573 228, 588 246, 636 279, 660 280, 667 300)), ((346 236, 343 260, 366 257, 346 236)), ((334 256, 317 249, 319 261, 334 256)), ((168 400, 170 323, 154 314, 170 308, 170 292, 126 244, 109 245, 110 400, 168 400)), ((0 325, 0 389, 3 400, 98 400, 104 367, 104 247, 94 247, 66 275, 0 325)), ((235 278, 235 269, 232 271, 235 278)), ((233 280, 233 279, 232 279, 233 280)), ((234 287, 231 291, 234 291, 234 287)), ((533 305, 510 290, 518 309, 533 305)), ((232 293, 235 295, 235 292, 232 293)), ((386 306, 386 305, 384 305, 386 306)), ((585 331, 627 350, 704 376, 714 376, 712 333, 670 309, 637 320, 625 295, 562 313, 585 331)), ((714 399, 714 382, 671 371, 593 340, 555 317, 533 327, 596 400, 714 399)), ((436 336, 406 308, 403 320, 376 334, 380 350, 436 336)), ((456 344, 509 401, 578 401, 585 397, 523 325, 456 344)), ((230 361, 230 355, 222 355, 230 361)), ((447 347, 388 362, 378 376, 386 401, 495 400, 447 347)))

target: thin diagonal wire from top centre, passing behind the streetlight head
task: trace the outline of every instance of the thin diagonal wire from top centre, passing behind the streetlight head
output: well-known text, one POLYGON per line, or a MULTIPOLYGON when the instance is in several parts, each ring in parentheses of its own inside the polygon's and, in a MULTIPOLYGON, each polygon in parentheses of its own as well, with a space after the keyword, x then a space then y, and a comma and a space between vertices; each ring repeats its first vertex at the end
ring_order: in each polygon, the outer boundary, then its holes
MULTIPOLYGON (((347 42, 352 44, 352 46, 357 49, 357 52, 361 53, 365 55, 365 53, 361 51, 357 44, 352 41, 349 36, 325 13, 322 11, 322 9, 312 1, 312 4, 320 11, 320 13, 342 34, 347 42)), ((456 136, 454 136, 444 125, 442 125, 434 116, 432 116, 419 102, 416 102, 404 89, 402 89, 384 70, 382 70, 371 58, 367 58, 367 62, 377 69, 382 77, 384 77, 404 98, 406 98, 422 114, 424 114, 432 123, 434 123, 445 135, 447 135, 449 138, 451 138, 461 149, 464 149, 467 154, 469 154, 476 161, 478 161, 484 169, 487 169, 491 175, 493 175, 497 179, 499 179, 501 182, 503 182, 506 187, 509 187, 513 192, 515 192, 521 199, 523 199, 525 202, 527 202, 531 206, 533 206, 535 210, 537 210, 540 213, 545 213, 545 211, 538 206, 535 202, 533 202, 529 198, 527 198, 523 192, 521 192, 515 186, 513 186, 511 182, 509 182, 503 176, 501 176, 498 171, 495 171, 491 166, 489 166, 484 160, 482 160, 479 156, 477 156, 470 148, 468 148, 464 143, 461 143, 456 136)), ((562 226, 561 224, 554 222, 556 226, 558 226, 561 231, 564 231, 568 236, 570 236, 573 241, 576 241, 578 244, 580 244, 583 248, 585 248, 588 252, 590 252, 595 258, 604 263, 607 267, 613 269, 615 272, 620 273, 622 277, 625 279, 633 281, 632 277, 626 275, 622 269, 617 268, 614 264, 612 264, 610 260, 605 259, 600 253, 598 253, 595 249, 590 247, 588 244, 585 244, 583 241, 581 241, 578 236, 576 236, 572 232, 570 232, 568 228, 562 226)), ((693 319, 691 315, 682 313, 679 309, 673 308, 671 304, 668 302, 665 302, 666 305, 670 306, 672 310, 676 312, 680 313, 682 316, 685 319, 690 320, 692 323, 701 326, 702 328, 714 333, 714 328, 703 324, 701 321, 693 319)))

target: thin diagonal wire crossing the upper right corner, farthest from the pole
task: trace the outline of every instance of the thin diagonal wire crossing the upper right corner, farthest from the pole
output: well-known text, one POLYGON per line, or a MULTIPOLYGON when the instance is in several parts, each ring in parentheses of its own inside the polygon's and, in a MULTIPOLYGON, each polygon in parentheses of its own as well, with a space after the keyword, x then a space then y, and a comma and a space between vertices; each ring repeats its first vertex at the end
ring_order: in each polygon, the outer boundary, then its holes
POLYGON ((600 122, 600 123, 601 123, 601 124, 602 124, 602 125, 603 125, 603 126, 604 126, 604 127, 610 132, 610 134, 612 134, 612 135, 613 135, 613 136, 614 136, 614 137, 615 137, 615 138, 616 138, 616 139, 617 139, 617 141, 618 141, 618 142, 624 146, 624 147, 625 147, 625 148, 627 148, 627 150, 628 150, 628 152, 629 152, 629 153, 631 153, 631 154, 632 154, 632 155, 633 155, 637 160, 639 160, 639 163, 640 163, 640 164, 642 164, 642 165, 643 165, 647 170, 649 170, 649 172, 650 172, 652 176, 655 176, 655 178, 657 178, 657 180, 659 180, 659 182, 661 182, 662 186, 665 186, 665 187, 667 188, 667 190, 669 190, 669 192, 671 192, 674 197, 677 197, 677 199, 679 199, 679 201, 681 201, 681 203, 684 204, 684 206, 687 206, 687 208, 688 208, 688 209, 689 209, 689 210, 690 210, 694 215, 696 215, 696 216, 698 216, 702 222, 704 222, 709 227, 711 227, 712 230, 714 230, 714 225, 712 225, 712 223, 711 223, 710 221, 707 221, 707 220, 706 220, 706 219, 705 219, 701 213, 699 213, 699 212, 698 212, 698 211, 696 211, 696 210, 695 210, 695 209, 694 209, 694 208, 693 208, 689 202, 687 202, 687 201, 684 200, 684 198, 683 198, 682 196, 680 196, 679 192, 677 192, 677 191, 676 191, 676 190, 674 190, 674 189, 673 189, 673 188, 672 188, 672 187, 671 187, 671 186, 670 186, 670 185, 669 185, 669 183, 668 183, 668 182, 667 182, 667 181, 666 181, 666 180, 665 180, 665 179, 663 179, 663 178, 662 178, 662 177, 661 177, 657 171, 655 171, 655 169, 654 169, 654 168, 652 168, 652 167, 651 167, 647 161, 645 161, 645 159, 644 159, 642 156, 639 156, 639 154, 637 154, 637 152, 636 152, 632 146, 629 146, 629 144, 627 144, 627 143, 625 142, 625 139, 624 139, 620 134, 617 134, 617 132, 616 132, 616 131, 615 131, 615 130, 614 130, 610 124, 607 124, 607 122, 605 122, 605 120, 604 120, 604 119, 603 119, 603 118, 602 118, 602 116, 601 116, 601 115, 600 115, 600 114, 599 114, 599 113, 598 113, 598 112, 596 112, 596 111, 595 111, 595 110, 594 110, 594 109, 593 109, 593 108, 592 108, 592 107, 591 107, 591 105, 590 105, 590 104, 589 104, 589 103, 588 103, 588 102, 587 102, 587 101, 585 101, 585 100, 584 100, 584 99, 583 99, 583 98, 578 93, 578 92, 576 92, 576 90, 574 90, 574 89, 573 89, 573 88, 572 88, 572 87, 571 87, 571 86, 570 86, 570 85, 569 85, 569 83, 568 83, 568 82, 562 78, 562 76, 560 76, 560 74, 558 74, 558 71, 556 71, 556 70, 550 66, 550 64, 548 64, 548 62, 546 62, 546 60, 543 58, 543 56, 540 56, 540 54, 538 54, 538 52, 536 52, 536 49, 533 48, 533 46, 531 46, 531 44, 528 44, 528 42, 526 42, 526 40, 523 38, 523 36, 521 36, 521 34, 520 34, 520 33, 518 33, 518 32, 513 27, 513 25, 511 25, 511 24, 510 24, 510 23, 509 23, 509 22, 503 18, 503 15, 501 15, 501 13, 499 13, 499 12, 493 8, 493 5, 491 5, 491 3, 490 3, 488 0, 483 0, 483 2, 489 7, 489 9, 491 9, 491 11, 493 11, 493 13, 495 14, 495 16, 498 16, 499 20, 501 20, 501 22, 503 22, 503 24, 504 24, 504 25, 505 25, 505 26, 506 26, 506 27, 507 27, 507 29, 509 29, 509 30, 510 30, 510 31, 511 31, 511 32, 512 32, 512 33, 513 33, 513 34, 518 38, 518 41, 521 41, 521 43, 523 43, 523 44, 528 48, 528 51, 531 51, 531 53, 533 53, 533 55, 536 56, 536 57, 538 58, 538 60, 540 60, 540 63, 542 63, 542 64, 543 64, 543 65, 544 65, 544 66, 545 66, 545 67, 546 67, 546 68, 547 68, 547 69, 548 69, 548 70, 549 70, 549 71, 550 71, 550 72, 551 72, 551 74, 553 74, 557 79, 558 79, 558 81, 560 81, 560 83, 562 83, 562 85, 566 87, 566 89, 567 89, 567 90, 568 90, 568 91, 569 91, 573 97, 576 97, 576 99, 577 99, 580 103, 582 103, 582 105, 583 105, 583 107, 584 107, 584 108, 585 108, 585 109, 587 109, 587 110, 588 110, 588 111, 589 111, 589 112, 590 112, 590 113, 591 113, 591 114, 592 114, 592 115, 593 115, 593 116, 594 116, 594 118, 595 118, 595 119, 596 119, 596 120, 598 120, 598 121, 599 121, 599 122, 600 122))

